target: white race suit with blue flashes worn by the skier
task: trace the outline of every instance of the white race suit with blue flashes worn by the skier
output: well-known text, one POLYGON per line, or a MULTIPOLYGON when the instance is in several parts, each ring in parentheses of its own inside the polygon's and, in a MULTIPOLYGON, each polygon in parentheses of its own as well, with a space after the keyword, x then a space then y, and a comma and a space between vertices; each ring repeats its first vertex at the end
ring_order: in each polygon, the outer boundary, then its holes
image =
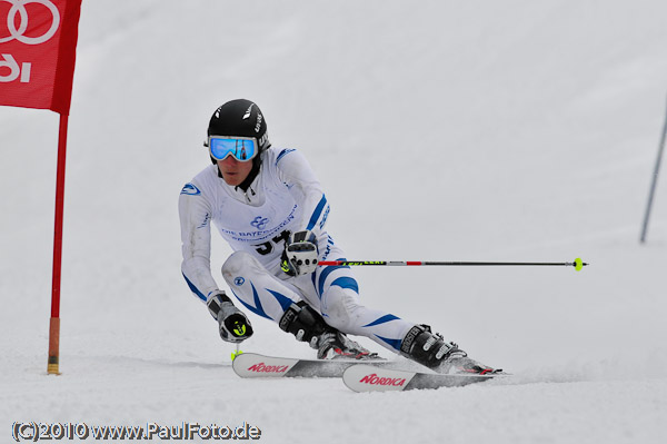
POLYGON ((219 287, 210 269, 211 224, 235 251, 222 277, 250 312, 280 320, 292 303, 305 300, 342 333, 366 336, 398 352, 415 323, 360 303, 348 266, 318 266, 302 276, 280 269, 290 233, 310 229, 319 260, 345 260, 325 229, 329 204, 306 158, 295 149, 269 148, 246 191, 229 186, 210 165, 182 188, 179 198, 181 270, 192 293, 207 303, 219 287))

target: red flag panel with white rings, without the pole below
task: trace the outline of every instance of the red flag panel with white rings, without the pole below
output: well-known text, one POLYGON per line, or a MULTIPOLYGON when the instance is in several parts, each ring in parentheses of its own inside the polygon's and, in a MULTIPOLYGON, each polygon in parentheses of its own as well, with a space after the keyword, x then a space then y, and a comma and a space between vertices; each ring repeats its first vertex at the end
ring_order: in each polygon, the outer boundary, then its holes
POLYGON ((0 105, 69 115, 81 0, 0 0, 0 105))

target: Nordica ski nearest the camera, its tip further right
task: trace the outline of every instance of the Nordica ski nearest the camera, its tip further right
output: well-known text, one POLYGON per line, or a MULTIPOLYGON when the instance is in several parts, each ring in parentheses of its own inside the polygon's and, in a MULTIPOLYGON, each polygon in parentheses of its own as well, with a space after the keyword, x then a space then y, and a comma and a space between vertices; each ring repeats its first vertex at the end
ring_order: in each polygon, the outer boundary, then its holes
POLYGON ((494 374, 438 374, 409 372, 357 364, 342 374, 342 382, 355 392, 400 392, 421 388, 461 387, 489 381, 494 374))

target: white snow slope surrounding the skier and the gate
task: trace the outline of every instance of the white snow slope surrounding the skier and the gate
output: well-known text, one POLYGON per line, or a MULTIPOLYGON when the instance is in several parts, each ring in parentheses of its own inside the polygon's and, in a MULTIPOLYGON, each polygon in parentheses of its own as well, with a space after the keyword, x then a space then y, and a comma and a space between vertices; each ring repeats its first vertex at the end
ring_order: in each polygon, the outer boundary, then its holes
MULTIPOLYGON (((0 109, 0 441, 36 421, 248 422, 260 442, 295 444, 667 442, 667 180, 638 243, 666 16, 659 0, 84 1, 58 377, 58 117, 0 109), (591 264, 357 270, 367 305, 514 379, 355 394, 232 373, 180 275, 177 199, 208 164, 210 115, 239 97, 273 145, 309 158, 350 259, 591 264)), ((219 269, 229 249, 213 249, 219 269)), ((242 349, 312 356, 250 316, 242 349)))

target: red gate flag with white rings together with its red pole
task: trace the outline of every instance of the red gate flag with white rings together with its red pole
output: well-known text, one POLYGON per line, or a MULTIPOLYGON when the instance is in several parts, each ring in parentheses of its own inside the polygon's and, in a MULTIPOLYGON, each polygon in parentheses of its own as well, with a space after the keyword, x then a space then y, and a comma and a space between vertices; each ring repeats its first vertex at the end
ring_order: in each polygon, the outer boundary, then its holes
POLYGON ((47 372, 60 374, 60 275, 67 126, 81 0, 0 0, 0 105, 60 115, 47 372))

